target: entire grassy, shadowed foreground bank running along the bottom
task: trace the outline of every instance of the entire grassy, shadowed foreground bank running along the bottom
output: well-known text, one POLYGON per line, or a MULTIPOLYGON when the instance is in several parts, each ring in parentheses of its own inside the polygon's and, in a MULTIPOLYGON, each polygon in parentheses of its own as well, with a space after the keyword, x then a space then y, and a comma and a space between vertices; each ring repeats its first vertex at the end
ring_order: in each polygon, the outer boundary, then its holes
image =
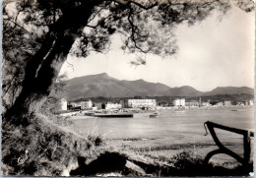
POLYGON ((108 147, 98 136, 83 138, 67 130, 67 120, 42 114, 30 125, 3 122, 2 175, 33 176, 247 176, 253 166, 204 164, 182 151, 168 159, 134 149, 108 147), (60 124, 62 123, 62 124, 60 124))

